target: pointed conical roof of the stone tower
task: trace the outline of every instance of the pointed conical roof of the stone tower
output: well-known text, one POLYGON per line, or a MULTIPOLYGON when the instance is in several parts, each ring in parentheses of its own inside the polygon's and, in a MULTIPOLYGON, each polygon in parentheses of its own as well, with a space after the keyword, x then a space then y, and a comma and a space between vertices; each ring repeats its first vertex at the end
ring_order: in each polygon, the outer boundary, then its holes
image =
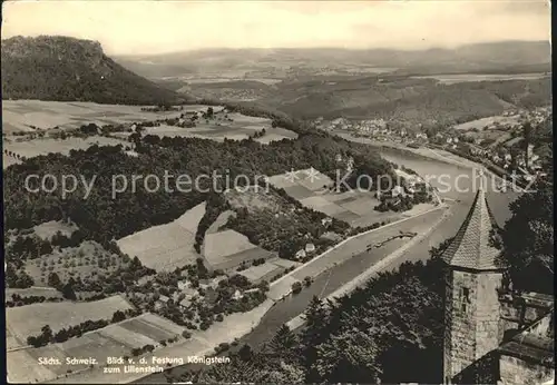
POLYGON ((501 269, 498 263, 500 250, 490 243, 491 231, 497 227, 486 199, 483 175, 480 174, 480 187, 472 207, 444 251, 443 260, 453 267, 475 270, 501 269))

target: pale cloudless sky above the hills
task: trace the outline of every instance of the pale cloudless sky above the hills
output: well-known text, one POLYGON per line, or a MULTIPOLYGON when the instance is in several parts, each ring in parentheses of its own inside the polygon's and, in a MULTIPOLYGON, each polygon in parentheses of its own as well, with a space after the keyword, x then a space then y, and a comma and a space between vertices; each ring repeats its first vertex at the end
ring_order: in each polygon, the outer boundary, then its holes
POLYGON ((2 39, 70 36, 97 40, 108 55, 205 48, 427 49, 550 40, 545 0, 16 0, 2 6, 2 39))

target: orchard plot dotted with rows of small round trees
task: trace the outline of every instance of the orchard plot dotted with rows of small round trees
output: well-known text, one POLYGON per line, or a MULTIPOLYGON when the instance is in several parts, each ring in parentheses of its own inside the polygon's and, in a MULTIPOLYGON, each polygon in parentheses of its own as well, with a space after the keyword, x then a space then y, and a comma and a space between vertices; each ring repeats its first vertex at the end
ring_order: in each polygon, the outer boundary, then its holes
POLYGON ((99 244, 87 240, 78 247, 55 249, 52 254, 36 259, 27 259, 26 272, 37 284, 47 285, 50 273, 58 274, 62 282, 70 277, 87 280, 102 279, 109 274, 128 264, 116 254, 108 253, 99 244))

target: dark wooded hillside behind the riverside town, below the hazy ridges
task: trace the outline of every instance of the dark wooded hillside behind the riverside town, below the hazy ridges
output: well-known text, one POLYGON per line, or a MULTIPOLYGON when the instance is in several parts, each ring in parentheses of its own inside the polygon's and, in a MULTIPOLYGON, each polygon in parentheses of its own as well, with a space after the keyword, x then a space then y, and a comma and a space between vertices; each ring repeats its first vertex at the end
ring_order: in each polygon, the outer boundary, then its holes
POLYGON ((451 85, 433 79, 383 77, 326 82, 282 83, 258 100, 294 118, 383 118, 409 125, 453 125, 499 115, 506 109, 551 102, 551 78, 451 85))

